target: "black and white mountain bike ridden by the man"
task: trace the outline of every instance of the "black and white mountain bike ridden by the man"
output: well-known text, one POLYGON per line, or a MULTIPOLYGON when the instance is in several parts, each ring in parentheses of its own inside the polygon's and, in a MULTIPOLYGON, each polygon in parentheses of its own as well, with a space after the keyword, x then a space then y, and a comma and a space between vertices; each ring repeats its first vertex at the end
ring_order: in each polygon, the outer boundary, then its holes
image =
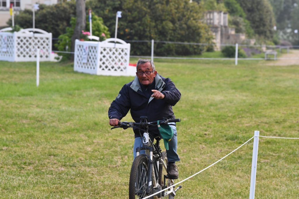
MULTIPOLYGON (((164 120, 159 120, 159 124, 162 125, 175 125, 169 124, 175 122, 180 122, 180 119, 164 118, 164 120)), ((142 139, 143 146, 136 149, 136 158, 132 163, 129 181, 129 199, 141 199, 174 184, 174 180, 170 179, 166 172, 168 163, 167 154, 166 151, 162 152, 162 149, 160 148, 161 138, 158 135, 149 137, 148 127, 158 126, 157 123, 158 121, 148 122, 147 117, 140 117, 139 123, 119 122, 117 127, 111 128, 139 129, 140 139, 142 139), (156 140, 156 143, 152 142, 154 139, 156 140), (145 150, 145 154, 141 154, 141 150, 145 150)), ((180 188, 181 186, 177 189, 175 189, 175 187, 170 187, 150 198, 173 199, 180 188)))

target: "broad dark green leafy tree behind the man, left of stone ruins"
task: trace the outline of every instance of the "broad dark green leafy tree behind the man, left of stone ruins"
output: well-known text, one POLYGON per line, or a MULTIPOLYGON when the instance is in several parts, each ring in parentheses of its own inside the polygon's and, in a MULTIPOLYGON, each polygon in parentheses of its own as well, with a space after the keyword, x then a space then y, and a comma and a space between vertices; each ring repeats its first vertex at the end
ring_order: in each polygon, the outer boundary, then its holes
MULTIPOLYGON (((201 22, 204 8, 189 0, 90 0, 89 7, 103 17, 109 30, 115 30, 115 16, 122 11, 118 20, 118 38, 123 40, 151 40, 211 43, 212 34, 207 25, 201 22)), ((131 43, 131 54, 148 55, 148 43, 131 43)), ((205 46, 183 46, 155 43, 156 55, 181 53, 198 54, 205 46)))

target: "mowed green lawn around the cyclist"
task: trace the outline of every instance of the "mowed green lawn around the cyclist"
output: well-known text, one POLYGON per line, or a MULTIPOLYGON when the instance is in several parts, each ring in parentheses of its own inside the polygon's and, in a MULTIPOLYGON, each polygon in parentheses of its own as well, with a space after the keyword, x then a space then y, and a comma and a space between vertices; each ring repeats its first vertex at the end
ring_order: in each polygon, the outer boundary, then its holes
MULTIPOLYGON (((299 65, 265 63, 155 60, 158 73, 182 94, 173 107, 181 118, 178 180, 224 157, 255 130, 299 137, 299 65)), ((0 62, 0 198, 128 198, 134 134, 110 130, 107 111, 133 77, 41 62, 37 88, 35 68, 34 62, 0 62)), ((252 146, 253 140, 181 183, 176 198, 249 198, 252 146)), ((299 140, 260 137, 255 197, 298 198, 298 162, 299 140)))

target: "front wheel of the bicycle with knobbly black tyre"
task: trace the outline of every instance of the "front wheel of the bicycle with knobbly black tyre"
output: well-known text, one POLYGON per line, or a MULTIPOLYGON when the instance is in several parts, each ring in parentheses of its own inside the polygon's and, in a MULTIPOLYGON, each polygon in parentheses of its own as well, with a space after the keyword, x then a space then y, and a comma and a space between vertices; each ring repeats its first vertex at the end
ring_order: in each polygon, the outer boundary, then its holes
MULTIPOLYGON (((135 158, 129 182, 129 199, 144 198, 147 196, 148 160, 146 156, 139 155, 135 158)), ((153 193, 153 189, 149 191, 153 193)))

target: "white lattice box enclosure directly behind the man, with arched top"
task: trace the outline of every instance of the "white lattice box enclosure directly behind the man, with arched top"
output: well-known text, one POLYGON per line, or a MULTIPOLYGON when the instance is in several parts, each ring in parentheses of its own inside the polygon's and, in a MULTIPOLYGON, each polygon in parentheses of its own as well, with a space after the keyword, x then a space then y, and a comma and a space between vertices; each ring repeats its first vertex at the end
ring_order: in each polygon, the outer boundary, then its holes
POLYGON ((128 70, 129 59, 130 44, 123 40, 114 38, 103 42, 76 40, 74 71, 97 75, 135 76, 135 71, 128 70), (88 55, 86 55, 87 46, 88 55))

